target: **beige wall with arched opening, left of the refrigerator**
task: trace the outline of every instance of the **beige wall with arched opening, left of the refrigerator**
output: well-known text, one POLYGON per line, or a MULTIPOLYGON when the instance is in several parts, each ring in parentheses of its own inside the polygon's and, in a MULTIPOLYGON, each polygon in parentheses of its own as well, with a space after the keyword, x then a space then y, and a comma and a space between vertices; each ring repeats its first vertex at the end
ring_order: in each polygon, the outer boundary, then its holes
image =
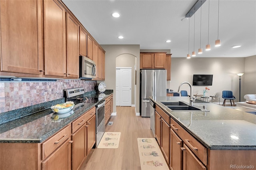
MULTIPOLYGON (((106 51, 105 59, 105 83, 107 89, 113 89, 113 112, 116 112, 116 57, 129 54, 136 57, 137 85, 134 91, 136 112, 140 111, 140 45, 101 45, 106 51)), ((132 57, 132 59, 134 59, 132 57)), ((134 68, 134 67, 133 67, 134 68)))

